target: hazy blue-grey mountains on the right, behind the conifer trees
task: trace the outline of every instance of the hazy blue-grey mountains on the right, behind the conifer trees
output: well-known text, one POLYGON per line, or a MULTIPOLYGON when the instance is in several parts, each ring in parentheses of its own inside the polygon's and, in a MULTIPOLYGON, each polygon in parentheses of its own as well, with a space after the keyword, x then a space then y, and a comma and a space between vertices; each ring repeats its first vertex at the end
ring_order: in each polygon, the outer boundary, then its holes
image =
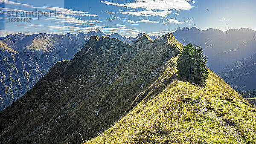
POLYGON ((256 32, 247 28, 222 32, 218 29, 200 31, 196 27, 184 27, 172 34, 181 43, 200 45, 207 56, 208 67, 215 72, 256 52, 256 32))

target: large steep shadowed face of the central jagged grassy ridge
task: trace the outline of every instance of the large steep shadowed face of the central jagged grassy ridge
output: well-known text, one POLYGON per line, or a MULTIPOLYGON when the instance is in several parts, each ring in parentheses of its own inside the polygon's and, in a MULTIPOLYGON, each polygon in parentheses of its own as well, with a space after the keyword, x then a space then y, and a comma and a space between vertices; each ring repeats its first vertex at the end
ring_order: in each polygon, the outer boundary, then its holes
POLYGON ((140 101, 137 95, 181 49, 171 34, 143 35, 132 45, 90 37, 72 60, 56 63, 0 112, 0 143, 79 143, 79 133, 93 138, 140 101))

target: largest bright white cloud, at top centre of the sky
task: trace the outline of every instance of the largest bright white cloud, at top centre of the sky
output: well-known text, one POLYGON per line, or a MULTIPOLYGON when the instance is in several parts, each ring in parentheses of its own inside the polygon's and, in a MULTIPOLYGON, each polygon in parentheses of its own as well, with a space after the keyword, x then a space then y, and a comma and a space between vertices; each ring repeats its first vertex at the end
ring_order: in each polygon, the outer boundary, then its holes
MULTIPOLYGON (((102 1, 105 4, 119 7, 126 7, 131 9, 145 9, 143 11, 126 11, 122 14, 142 15, 142 16, 161 16, 167 17, 167 14, 172 13, 171 10, 189 10, 193 6, 189 4, 191 0, 135 0, 134 3, 112 3, 109 1, 102 1)), ((193 1, 192 1, 193 3, 193 1)))

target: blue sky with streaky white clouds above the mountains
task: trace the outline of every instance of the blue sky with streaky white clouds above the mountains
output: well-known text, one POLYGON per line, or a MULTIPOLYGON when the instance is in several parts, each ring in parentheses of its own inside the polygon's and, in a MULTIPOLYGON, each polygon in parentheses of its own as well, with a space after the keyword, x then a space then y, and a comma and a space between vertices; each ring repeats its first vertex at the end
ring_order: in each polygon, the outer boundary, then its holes
MULTIPOLYGON (((198 29, 256 30, 256 0, 0 0, 5 14, 4 30, 10 33, 78 34, 101 30, 106 34, 136 37, 138 33, 160 36, 178 27, 198 29), (30 22, 9 22, 7 12, 50 12, 56 9, 60 16, 25 17, 30 22)), ((0 27, 3 28, 3 23, 0 27)))

